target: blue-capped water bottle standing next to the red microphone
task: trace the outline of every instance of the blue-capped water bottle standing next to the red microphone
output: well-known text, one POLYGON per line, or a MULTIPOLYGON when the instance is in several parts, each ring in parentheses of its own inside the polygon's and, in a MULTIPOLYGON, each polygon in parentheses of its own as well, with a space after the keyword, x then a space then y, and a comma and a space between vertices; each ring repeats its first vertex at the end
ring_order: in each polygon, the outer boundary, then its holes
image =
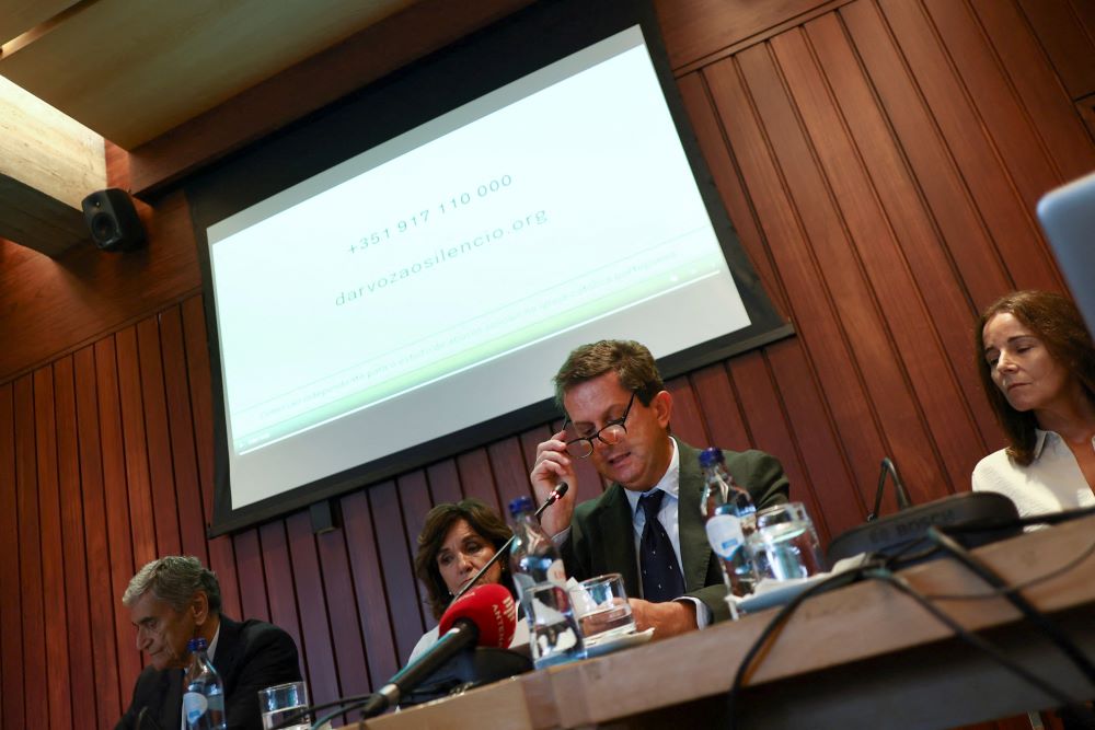
POLYGON ((537 521, 531 499, 518 497, 509 503, 509 513, 514 517, 510 572, 529 622, 533 663, 542 669, 585 659, 558 549, 537 521))

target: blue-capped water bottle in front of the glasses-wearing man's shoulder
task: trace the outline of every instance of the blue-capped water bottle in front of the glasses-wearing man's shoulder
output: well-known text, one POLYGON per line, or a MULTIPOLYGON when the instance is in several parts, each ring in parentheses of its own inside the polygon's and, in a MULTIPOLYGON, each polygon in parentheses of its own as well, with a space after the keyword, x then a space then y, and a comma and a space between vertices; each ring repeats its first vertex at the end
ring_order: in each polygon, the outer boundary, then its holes
POLYGON ((750 520, 757 507, 749 493, 735 484, 722 450, 700 452, 700 468, 703 470, 700 512, 705 520, 707 542, 723 565, 727 590, 737 596, 748 595, 757 584, 757 573, 746 549, 746 536, 751 531, 750 520))

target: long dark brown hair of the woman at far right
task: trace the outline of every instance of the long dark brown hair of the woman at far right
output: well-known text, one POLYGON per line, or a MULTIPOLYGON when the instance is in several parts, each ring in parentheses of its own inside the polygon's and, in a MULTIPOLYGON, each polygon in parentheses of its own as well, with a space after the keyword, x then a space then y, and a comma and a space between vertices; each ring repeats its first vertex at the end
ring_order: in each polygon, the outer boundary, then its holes
POLYGON ((1050 356, 1080 381, 1087 398, 1095 404, 1095 346, 1083 317, 1072 300, 1047 291, 1014 291, 1001 297, 981 313, 973 339, 977 371, 996 421, 1011 444, 1007 454, 1024 466, 1034 461, 1038 421, 1034 412, 1018 412, 1007 403, 992 381, 992 368, 984 359, 984 325, 998 314, 1011 314, 1042 341, 1050 356))

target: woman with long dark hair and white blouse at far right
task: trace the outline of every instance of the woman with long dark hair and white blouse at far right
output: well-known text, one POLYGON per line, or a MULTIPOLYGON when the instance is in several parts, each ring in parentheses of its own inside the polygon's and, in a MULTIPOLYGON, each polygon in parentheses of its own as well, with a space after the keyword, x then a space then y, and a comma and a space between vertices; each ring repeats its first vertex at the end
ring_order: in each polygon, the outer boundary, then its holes
POLYGON ((1013 292, 984 311, 976 339, 1010 445, 978 463, 975 491, 1010 497, 1024 517, 1095 505, 1095 346, 1075 304, 1013 292))

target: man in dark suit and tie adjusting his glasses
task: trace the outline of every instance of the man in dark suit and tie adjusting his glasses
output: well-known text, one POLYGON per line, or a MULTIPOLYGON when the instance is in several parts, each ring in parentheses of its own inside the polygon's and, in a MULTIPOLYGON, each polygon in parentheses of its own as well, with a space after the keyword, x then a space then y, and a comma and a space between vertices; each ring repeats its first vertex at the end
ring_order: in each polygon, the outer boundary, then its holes
MULTIPOLYGON (((540 499, 558 482, 570 486, 541 518, 545 531, 561 544, 567 573, 578 580, 621 573, 629 595, 644 596, 631 599, 636 628, 654 627, 659 638, 727 618, 722 569, 700 513, 703 478, 698 451, 670 436, 672 396, 650 351, 623 340, 577 348, 555 375, 555 399, 566 421, 563 430, 537 447, 530 477, 540 499), (574 463, 585 457, 612 486, 575 508, 574 463), (646 508, 650 498, 654 506, 646 508), (656 523, 647 524, 647 509, 656 523), (671 544, 669 577, 673 570, 680 573, 679 592, 668 600, 652 595, 660 584, 646 578, 647 561, 664 559, 656 552, 649 556, 647 546, 655 538, 648 529, 671 544)), ((787 500, 787 478, 775 457, 760 451, 724 455, 728 471, 749 490, 758 509, 787 500)), ((668 553, 667 547, 662 556, 668 553)))

